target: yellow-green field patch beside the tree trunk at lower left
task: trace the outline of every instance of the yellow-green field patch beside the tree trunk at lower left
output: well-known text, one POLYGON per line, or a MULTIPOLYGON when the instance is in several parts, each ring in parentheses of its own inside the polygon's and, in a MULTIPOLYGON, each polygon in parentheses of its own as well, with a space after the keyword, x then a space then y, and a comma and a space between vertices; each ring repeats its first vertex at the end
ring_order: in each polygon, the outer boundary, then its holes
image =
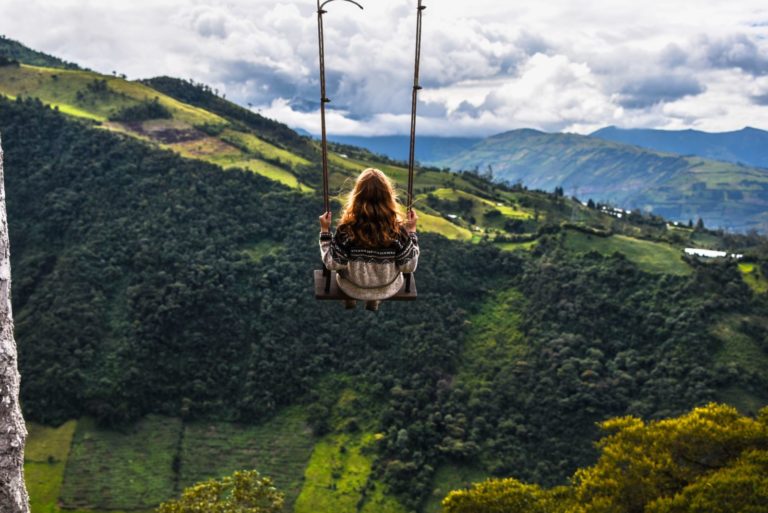
POLYGON ((24 448, 24 477, 32 513, 59 512, 57 502, 76 427, 77 421, 74 420, 58 428, 34 423, 27 425, 29 435, 24 448))

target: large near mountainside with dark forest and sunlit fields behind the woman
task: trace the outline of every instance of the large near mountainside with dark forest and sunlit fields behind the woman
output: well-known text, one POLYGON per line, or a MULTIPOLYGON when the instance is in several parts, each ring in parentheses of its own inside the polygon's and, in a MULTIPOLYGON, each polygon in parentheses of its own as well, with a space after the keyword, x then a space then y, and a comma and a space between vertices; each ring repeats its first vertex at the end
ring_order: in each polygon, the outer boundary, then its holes
MULTIPOLYGON (((562 483, 608 417, 768 403, 764 238, 421 169, 419 299, 344 311, 312 297, 316 145, 152 83, 0 68, 41 511, 148 510, 246 467, 297 513, 437 511, 488 476, 562 483)), ((336 190, 405 176, 335 150, 336 190)))

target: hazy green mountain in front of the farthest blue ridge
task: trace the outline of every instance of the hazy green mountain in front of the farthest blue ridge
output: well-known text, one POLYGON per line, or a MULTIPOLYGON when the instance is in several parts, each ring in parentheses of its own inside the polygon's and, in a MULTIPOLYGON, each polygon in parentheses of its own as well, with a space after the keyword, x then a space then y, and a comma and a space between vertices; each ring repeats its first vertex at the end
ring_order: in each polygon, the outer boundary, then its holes
POLYGON ((768 170, 576 134, 514 130, 439 163, 685 222, 768 232, 768 170))

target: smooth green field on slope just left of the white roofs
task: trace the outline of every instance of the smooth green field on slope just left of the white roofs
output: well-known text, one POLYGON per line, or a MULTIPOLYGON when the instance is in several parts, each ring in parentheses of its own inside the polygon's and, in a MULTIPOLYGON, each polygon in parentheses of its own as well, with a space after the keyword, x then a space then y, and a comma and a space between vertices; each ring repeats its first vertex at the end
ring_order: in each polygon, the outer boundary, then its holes
POLYGON ((691 268, 682 259, 682 251, 669 244, 633 239, 624 235, 598 237, 568 230, 565 237, 568 250, 587 253, 597 251, 603 255, 621 253, 640 269, 650 273, 688 275, 691 268))

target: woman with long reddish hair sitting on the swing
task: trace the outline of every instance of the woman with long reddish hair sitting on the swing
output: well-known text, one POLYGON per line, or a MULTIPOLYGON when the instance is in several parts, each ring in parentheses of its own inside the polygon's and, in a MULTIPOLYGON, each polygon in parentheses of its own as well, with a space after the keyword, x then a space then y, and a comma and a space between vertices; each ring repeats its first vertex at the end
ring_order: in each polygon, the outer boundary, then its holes
POLYGON ((378 169, 366 169, 355 182, 347 204, 331 234, 331 213, 320 216, 320 255, 323 264, 337 271, 339 288, 350 298, 347 309, 356 300, 365 301, 373 312, 379 302, 394 296, 403 285, 403 273, 416 270, 419 240, 418 217, 402 207, 389 178, 378 169))

